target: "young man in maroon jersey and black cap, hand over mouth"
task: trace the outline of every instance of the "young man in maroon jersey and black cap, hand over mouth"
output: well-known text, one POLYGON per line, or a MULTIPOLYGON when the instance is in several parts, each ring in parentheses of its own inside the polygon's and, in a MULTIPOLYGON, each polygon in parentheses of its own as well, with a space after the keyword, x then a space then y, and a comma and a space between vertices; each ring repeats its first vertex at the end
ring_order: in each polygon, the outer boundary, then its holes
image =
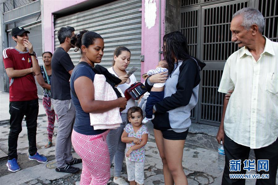
POLYGON ((34 75, 40 74, 40 66, 36 53, 29 42, 29 31, 15 27, 11 31, 15 47, 3 50, 3 61, 6 73, 10 78, 10 133, 8 138, 9 171, 19 171, 17 163, 17 140, 22 130, 22 120, 26 116, 26 126, 29 141, 29 159, 47 162, 47 158, 37 153, 36 131, 39 102, 34 75))

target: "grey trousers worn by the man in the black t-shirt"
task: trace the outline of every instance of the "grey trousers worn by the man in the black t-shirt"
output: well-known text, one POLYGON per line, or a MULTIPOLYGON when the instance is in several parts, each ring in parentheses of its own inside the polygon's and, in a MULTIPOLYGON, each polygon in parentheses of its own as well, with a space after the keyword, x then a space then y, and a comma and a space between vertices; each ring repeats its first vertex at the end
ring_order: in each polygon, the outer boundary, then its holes
POLYGON ((75 108, 71 100, 51 99, 54 111, 58 115, 58 132, 55 144, 57 168, 65 167, 73 160, 71 154, 71 133, 74 125, 75 108))

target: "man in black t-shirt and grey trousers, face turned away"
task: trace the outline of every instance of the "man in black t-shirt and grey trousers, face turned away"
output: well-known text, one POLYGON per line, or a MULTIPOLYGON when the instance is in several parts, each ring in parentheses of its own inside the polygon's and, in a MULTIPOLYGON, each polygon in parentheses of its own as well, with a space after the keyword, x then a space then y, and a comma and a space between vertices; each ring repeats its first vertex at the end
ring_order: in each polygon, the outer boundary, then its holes
POLYGON ((60 46, 54 51, 51 68, 51 101, 58 116, 58 132, 56 139, 56 171, 76 173, 79 168, 70 165, 82 162, 71 154, 71 132, 74 124, 75 109, 70 97, 70 75, 74 64, 67 53, 74 45, 70 39, 74 37, 73 27, 61 27, 58 31, 60 46))

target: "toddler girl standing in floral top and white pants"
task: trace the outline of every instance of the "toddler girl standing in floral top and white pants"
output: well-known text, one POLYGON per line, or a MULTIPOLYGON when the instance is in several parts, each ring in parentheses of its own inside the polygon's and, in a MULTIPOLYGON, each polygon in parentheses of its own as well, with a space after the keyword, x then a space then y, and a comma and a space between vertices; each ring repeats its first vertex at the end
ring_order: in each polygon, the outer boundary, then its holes
POLYGON ((130 185, 144 184, 145 145, 148 129, 142 124, 143 111, 139 107, 128 109, 128 123, 121 140, 126 143, 125 161, 130 185))

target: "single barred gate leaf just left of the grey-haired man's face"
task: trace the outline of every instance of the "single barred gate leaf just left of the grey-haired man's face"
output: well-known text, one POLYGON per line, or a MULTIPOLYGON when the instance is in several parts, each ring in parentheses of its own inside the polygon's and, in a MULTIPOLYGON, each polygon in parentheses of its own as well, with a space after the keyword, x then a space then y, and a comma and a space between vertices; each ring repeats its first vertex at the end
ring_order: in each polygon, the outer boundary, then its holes
POLYGON ((219 93, 218 87, 225 61, 238 50, 238 46, 231 41, 230 22, 233 14, 247 7, 248 2, 226 3, 222 6, 208 6, 203 8, 201 59, 208 65, 202 72, 201 91, 198 119, 201 123, 218 125, 221 121, 224 94, 219 93))

